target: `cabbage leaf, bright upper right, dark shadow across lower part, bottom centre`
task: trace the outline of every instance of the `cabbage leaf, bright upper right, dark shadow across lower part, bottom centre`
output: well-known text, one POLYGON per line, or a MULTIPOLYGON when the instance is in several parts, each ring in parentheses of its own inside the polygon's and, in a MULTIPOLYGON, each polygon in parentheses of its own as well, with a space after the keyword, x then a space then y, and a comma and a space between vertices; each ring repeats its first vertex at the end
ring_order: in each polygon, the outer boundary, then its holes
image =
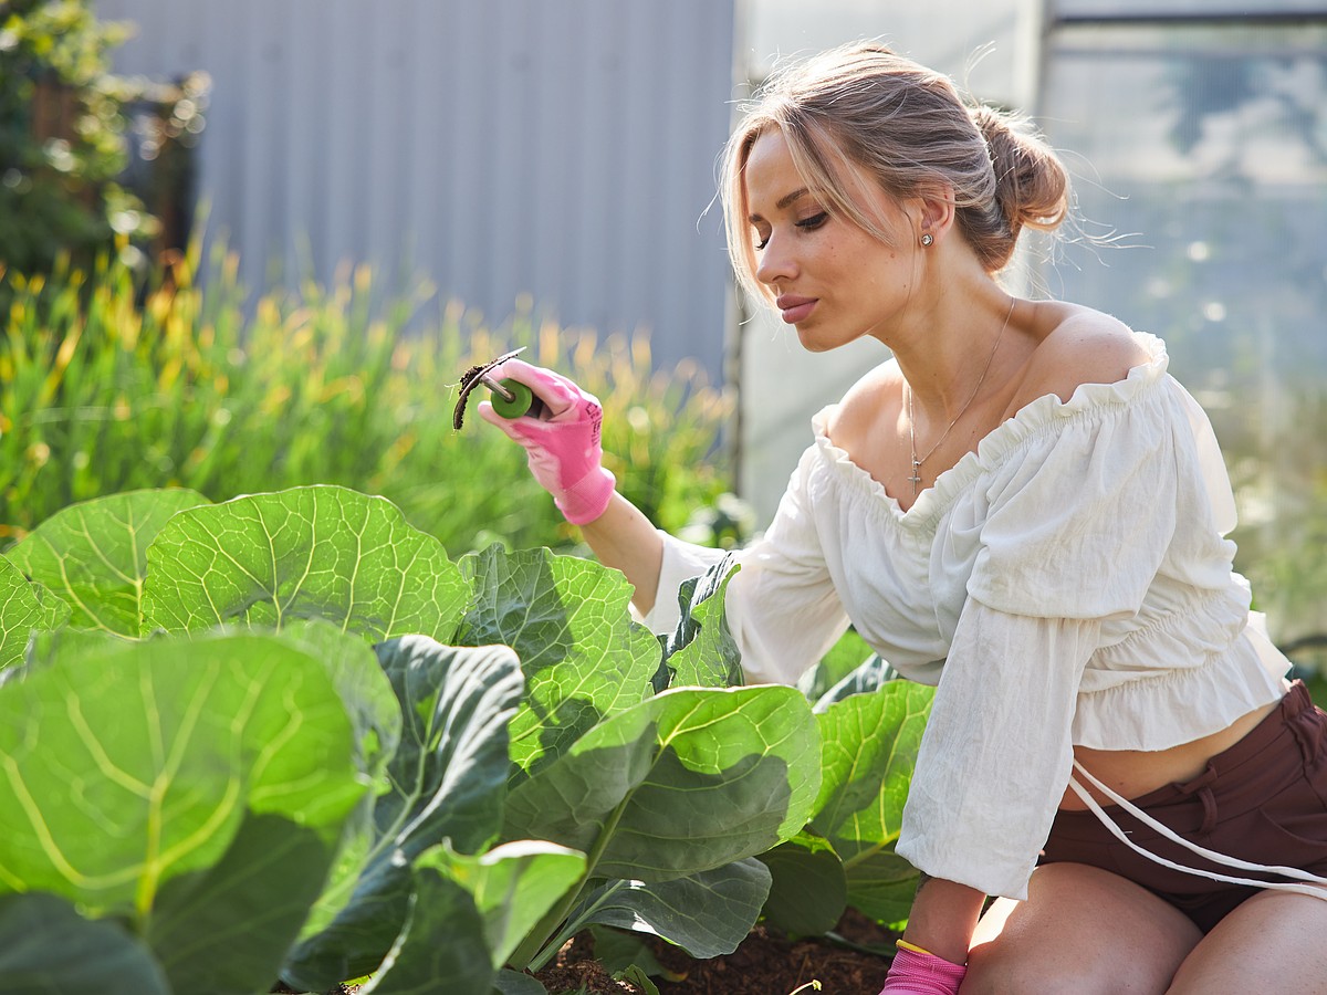
POLYGON ((503 836, 640 881, 711 870, 804 825, 820 736, 796 689, 677 689, 601 722, 507 799, 503 836))

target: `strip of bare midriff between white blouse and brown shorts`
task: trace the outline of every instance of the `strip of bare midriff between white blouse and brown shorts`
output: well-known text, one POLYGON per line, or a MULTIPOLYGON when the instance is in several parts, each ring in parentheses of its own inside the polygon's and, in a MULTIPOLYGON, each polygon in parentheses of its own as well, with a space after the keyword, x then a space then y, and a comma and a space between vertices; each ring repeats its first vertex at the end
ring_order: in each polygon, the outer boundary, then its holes
MULTIPOLYGON (((1141 797, 1166 784, 1185 784, 1198 777, 1208 768, 1208 760, 1229 750, 1249 735, 1259 722, 1275 711, 1277 706, 1278 703, 1273 702, 1261 708, 1254 708, 1220 732, 1213 732, 1210 736, 1202 736, 1189 743, 1181 743, 1169 750, 1091 750, 1088 747, 1074 747, 1074 758, 1093 777, 1109 785, 1123 797, 1141 797)), ((1082 777, 1079 777, 1079 783, 1101 804, 1112 804, 1096 788, 1083 783, 1082 777)), ((1066 788, 1064 797, 1060 800, 1060 808, 1068 812, 1082 812, 1087 805, 1074 793, 1072 788, 1066 788)))

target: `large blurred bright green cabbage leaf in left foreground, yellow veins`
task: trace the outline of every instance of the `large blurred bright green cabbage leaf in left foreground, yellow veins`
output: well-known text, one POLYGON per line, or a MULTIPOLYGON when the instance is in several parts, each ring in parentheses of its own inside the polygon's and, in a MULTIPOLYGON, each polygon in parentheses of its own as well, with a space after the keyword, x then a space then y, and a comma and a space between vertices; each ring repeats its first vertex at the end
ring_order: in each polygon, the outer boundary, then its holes
POLYGON ((222 857, 245 811, 334 838, 364 793, 340 698, 292 646, 74 645, 0 687, 0 890, 147 914, 165 881, 222 857))

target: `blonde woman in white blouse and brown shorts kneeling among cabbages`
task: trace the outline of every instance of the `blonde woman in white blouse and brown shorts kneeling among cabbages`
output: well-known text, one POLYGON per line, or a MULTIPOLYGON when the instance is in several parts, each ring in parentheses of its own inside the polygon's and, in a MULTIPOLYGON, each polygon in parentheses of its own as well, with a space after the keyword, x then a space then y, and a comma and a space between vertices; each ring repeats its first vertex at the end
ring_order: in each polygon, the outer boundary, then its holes
MULTIPOLYGON (((1064 219, 1062 165, 873 44, 776 76, 725 163, 744 283, 812 352, 892 353, 816 417, 727 589, 750 682, 796 681, 851 621, 937 685, 884 991, 1327 992, 1327 716, 1231 572, 1210 426, 1158 340, 995 280, 1064 219)), ((498 375, 552 418, 484 418, 669 631, 714 551, 614 494, 592 397, 498 375)))

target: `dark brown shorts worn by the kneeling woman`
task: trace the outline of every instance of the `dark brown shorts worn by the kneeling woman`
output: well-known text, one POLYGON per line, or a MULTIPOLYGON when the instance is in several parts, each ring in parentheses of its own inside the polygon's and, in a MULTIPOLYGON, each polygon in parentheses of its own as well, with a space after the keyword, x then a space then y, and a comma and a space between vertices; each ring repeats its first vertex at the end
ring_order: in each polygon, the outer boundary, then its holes
MULTIPOLYGON (((1327 877, 1327 712, 1310 700, 1303 682, 1295 681, 1281 707, 1213 756, 1200 777, 1132 801, 1200 846, 1327 877)), ((1176 864, 1233 877, 1286 880, 1214 864, 1117 807, 1105 811, 1136 844, 1176 864)), ((1121 874, 1180 909, 1204 933, 1259 890, 1154 864, 1120 842, 1091 812, 1056 815, 1039 862, 1058 861, 1121 874)))

